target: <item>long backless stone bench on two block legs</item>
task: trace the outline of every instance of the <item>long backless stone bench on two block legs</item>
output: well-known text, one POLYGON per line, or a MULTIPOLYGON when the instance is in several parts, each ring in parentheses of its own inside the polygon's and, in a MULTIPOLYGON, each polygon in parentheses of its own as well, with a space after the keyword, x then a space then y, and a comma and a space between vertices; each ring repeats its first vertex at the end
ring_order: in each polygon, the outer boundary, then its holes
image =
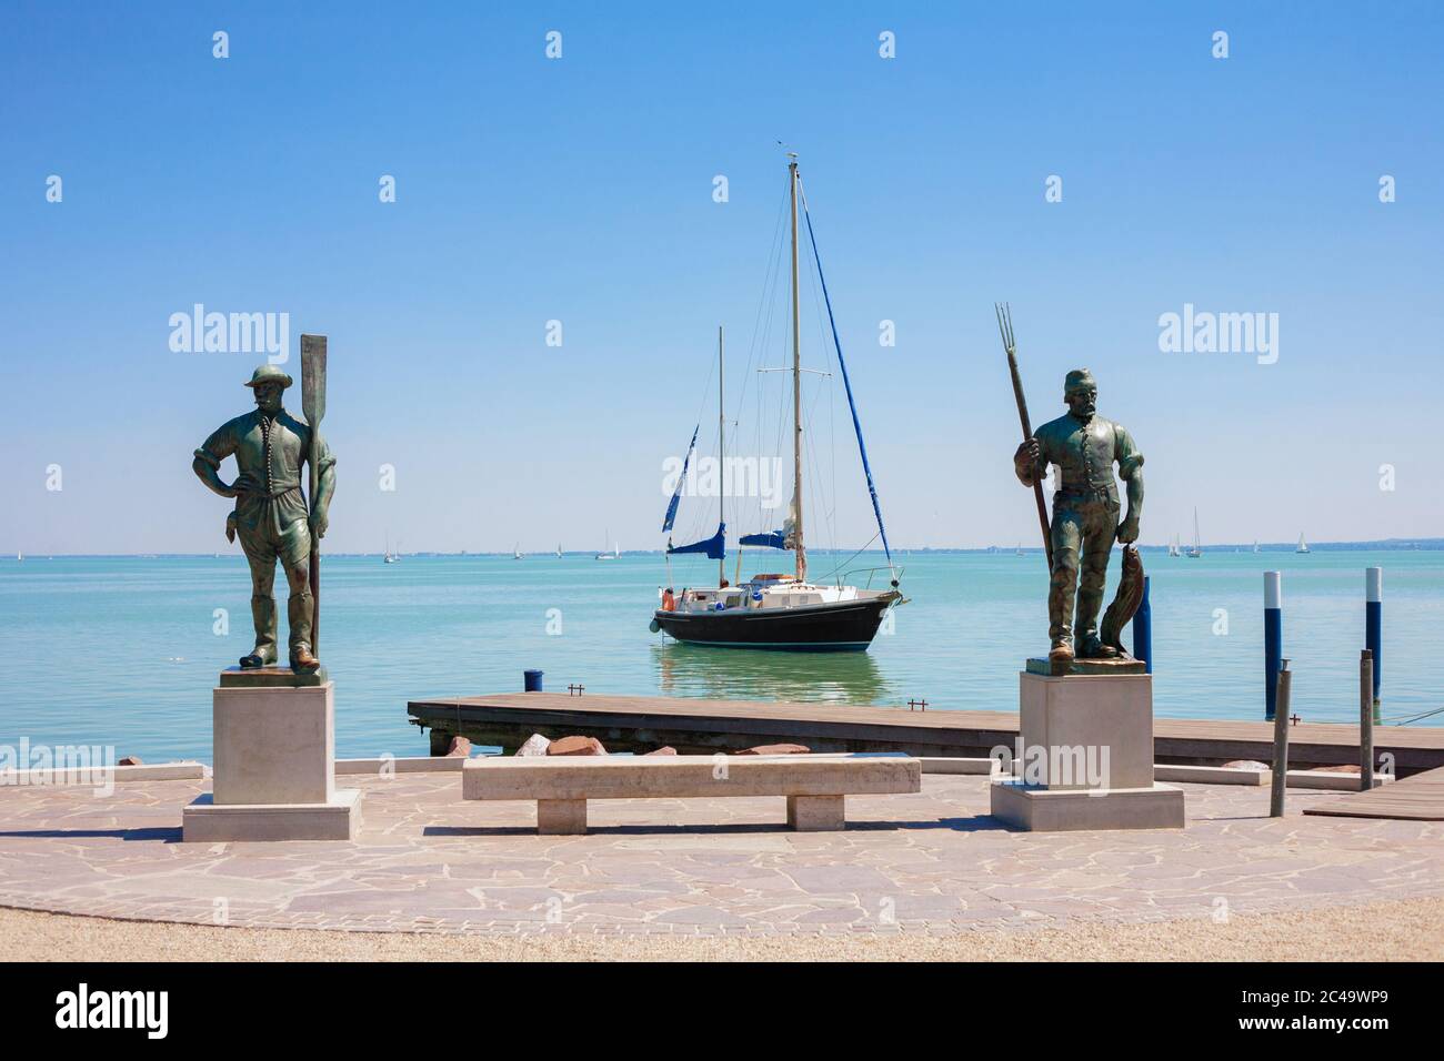
POLYGON ((799 831, 843 829, 843 797, 917 793, 921 764, 901 752, 468 759, 465 800, 536 800, 537 833, 586 831, 588 800, 781 795, 799 831))

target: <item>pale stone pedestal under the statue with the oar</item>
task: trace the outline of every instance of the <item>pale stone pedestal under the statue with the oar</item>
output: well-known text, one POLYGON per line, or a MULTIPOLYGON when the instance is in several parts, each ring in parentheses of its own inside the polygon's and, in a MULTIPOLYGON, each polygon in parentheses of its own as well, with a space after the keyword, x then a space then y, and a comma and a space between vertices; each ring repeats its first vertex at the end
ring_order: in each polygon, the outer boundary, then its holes
POLYGON ((361 794, 335 788, 335 686, 222 683, 212 693, 214 794, 182 816, 189 842, 349 840, 361 794))

